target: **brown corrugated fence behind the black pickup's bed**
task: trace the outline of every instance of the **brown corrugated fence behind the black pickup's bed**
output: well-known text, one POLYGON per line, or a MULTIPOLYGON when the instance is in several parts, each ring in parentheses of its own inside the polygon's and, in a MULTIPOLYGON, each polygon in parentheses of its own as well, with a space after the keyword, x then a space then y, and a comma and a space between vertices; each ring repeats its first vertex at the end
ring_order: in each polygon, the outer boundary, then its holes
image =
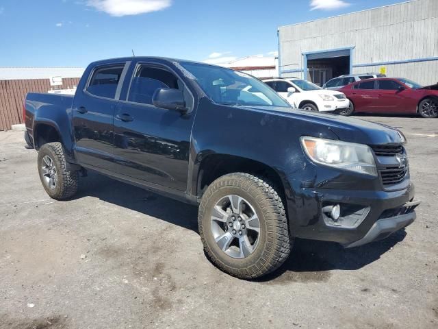
MULTIPOLYGON (((73 88, 77 84, 79 78, 66 78, 59 88, 73 88)), ((0 131, 23 123, 23 101, 27 93, 47 93, 50 89, 49 79, 0 80, 0 131)))

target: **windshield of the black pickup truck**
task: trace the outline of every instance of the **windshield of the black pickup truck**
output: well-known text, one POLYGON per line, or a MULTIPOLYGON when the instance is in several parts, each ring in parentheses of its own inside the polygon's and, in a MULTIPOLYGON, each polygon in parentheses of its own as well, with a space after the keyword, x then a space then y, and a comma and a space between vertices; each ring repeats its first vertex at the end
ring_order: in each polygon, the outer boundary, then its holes
POLYGON ((290 107, 274 90, 248 74, 201 63, 179 64, 192 75, 204 93, 215 103, 290 107))

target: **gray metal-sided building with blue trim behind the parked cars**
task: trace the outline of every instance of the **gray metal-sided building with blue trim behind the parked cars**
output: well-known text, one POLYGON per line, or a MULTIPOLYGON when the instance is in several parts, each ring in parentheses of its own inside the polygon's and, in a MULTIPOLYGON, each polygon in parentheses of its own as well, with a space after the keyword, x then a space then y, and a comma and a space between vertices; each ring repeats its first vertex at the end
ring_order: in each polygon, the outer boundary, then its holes
POLYGON ((279 74, 322 85, 377 72, 438 82, 438 0, 413 0, 279 27, 279 74))

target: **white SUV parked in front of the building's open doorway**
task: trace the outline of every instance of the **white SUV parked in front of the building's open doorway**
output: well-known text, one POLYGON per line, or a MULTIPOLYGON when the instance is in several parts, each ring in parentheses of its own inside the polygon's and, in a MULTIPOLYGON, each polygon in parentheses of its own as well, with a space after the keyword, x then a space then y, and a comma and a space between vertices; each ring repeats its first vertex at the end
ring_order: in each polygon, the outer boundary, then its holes
POLYGON ((339 91, 324 90, 307 80, 276 78, 263 80, 294 108, 303 110, 335 112, 350 107, 350 101, 339 91))

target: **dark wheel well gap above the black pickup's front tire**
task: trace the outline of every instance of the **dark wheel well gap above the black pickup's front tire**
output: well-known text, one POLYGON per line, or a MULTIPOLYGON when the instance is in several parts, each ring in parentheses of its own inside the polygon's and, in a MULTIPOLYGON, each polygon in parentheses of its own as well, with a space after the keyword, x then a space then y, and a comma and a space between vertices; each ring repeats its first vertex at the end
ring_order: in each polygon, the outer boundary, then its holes
POLYGON ((279 173, 267 164, 241 158, 239 156, 228 156, 224 154, 211 154, 202 162, 198 175, 197 195, 202 197, 205 189, 220 176, 227 173, 249 173, 263 180, 267 180, 281 199, 284 200, 284 186, 279 173))

